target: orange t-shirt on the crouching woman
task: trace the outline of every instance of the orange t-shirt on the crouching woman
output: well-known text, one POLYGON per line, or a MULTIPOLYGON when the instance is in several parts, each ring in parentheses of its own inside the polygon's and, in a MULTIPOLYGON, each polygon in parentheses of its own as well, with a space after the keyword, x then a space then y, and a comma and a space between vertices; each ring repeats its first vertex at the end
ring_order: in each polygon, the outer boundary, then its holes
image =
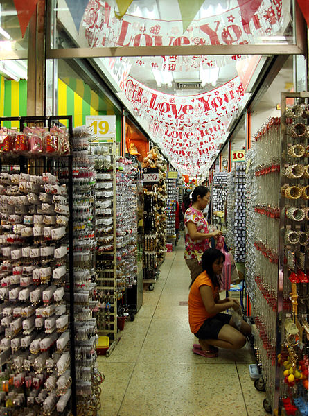
POLYGON ((205 309, 202 296, 200 293, 200 286, 210 286, 213 291, 213 299, 218 293, 218 288, 214 288, 209 275, 206 271, 197 276, 189 293, 189 324, 191 332, 197 333, 204 321, 215 316, 215 313, 208 313, 205 309))

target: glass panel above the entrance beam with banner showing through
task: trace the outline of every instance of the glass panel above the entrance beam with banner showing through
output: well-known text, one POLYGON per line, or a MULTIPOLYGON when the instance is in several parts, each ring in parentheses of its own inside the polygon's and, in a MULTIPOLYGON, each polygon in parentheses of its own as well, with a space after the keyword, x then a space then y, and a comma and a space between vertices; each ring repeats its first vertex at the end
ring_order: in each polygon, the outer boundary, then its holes
POLYGON ((55 0, 53 47, 294 44, 290 0, 206 0, 192 21, 178 1, 134 0, 117 19, 114 0, 86 0, 79 16, 55 0))

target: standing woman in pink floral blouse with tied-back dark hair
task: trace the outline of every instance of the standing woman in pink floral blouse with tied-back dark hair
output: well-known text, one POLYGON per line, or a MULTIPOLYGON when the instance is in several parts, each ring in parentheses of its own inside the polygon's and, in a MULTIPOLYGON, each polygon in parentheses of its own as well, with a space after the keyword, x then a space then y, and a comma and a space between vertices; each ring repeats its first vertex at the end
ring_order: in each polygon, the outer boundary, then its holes
POLYGON ((195 187, 191 198, 192 205, 184 214, 185 250, 184 259, 191 272, 191 280, 202 273, 202 254, 211 248, 209 239, 220 236, 222 233, 216 229, 209 232, 209 226, 204 217, 203 210, 209 204, 211 193, 207 187, 195 187))

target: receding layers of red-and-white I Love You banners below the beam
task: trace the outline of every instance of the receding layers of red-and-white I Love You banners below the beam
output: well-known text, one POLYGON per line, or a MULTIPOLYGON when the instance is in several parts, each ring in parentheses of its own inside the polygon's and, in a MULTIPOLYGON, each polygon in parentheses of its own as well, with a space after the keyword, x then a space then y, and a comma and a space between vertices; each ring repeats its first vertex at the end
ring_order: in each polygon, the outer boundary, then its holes
POLYGON ((121 88, 136 119, 148 124, 151 137, 178 161, 179 171, 194 175, 213 156, 244 99, 239 77, 195 96, 163 94, 131 77, 121 88))

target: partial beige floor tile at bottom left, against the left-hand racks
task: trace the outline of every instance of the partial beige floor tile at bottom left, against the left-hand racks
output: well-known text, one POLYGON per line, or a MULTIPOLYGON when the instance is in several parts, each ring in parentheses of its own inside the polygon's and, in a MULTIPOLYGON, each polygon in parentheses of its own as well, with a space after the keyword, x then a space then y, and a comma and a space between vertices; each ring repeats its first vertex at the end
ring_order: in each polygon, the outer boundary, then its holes
POLYGON ((100 361, 98 362, 98 369, 105 375, 105 381, 101 385, 101 408, 98 416, 117 416, 127 384, 134 370, 134 364, 100 361))

